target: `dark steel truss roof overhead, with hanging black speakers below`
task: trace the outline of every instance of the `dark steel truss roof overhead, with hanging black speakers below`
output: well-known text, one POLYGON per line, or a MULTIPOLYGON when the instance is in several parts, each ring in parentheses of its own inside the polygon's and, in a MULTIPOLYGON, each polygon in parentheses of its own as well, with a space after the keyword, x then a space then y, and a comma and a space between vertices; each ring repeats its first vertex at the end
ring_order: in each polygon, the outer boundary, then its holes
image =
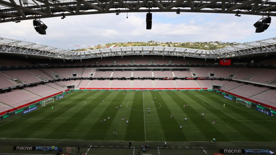
POLYGON ((0 0, 0 22, 120 12, 201 12, 276 16, 276 0, 0 0))

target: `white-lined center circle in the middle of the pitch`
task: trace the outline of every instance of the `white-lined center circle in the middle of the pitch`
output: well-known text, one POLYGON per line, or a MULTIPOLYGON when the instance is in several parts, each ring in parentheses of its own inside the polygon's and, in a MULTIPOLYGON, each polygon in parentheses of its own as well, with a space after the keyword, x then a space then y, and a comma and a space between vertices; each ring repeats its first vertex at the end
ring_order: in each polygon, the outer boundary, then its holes
MULTIPOLYGON (((141 107, 141 106, 139 106, 139 107, 141 107)), ((129 108, 131 110, 135 110, 135 111, 147 111, 147 108, 150 108, 150 111, 153 111, 153 110, 157 110, 157 109, 161 108, 161 104, 158 103, 158 102, 156 102, 156 101, 153 101, 153 103, 152 103, 152 100, 135 100, 135 101, 128 102, 127 103, 127 108, 129 108), (141 106, 143 106, 141 108, 141 110, 133 108, 133 104, 135 104, 135 102, 139 102, 138 104, 140 104, 141 106), (129 104, 132 104, 131 108, 128 106, 129 104), (158 104, 159 104, 159 107, 156 108, 157 107, 156 105, 158 105, 158 104), (152 107, 152 106, 154 106, 155 109, 151 109, 150 107, 152 107), (145 109, 142 110, 143 108, 145 108, 145 109)))

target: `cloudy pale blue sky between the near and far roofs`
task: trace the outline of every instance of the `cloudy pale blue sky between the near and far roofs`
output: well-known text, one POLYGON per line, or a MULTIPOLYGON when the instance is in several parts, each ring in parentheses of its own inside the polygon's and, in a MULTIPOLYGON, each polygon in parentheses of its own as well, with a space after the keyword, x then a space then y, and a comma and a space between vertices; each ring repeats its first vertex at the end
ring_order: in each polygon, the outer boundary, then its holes
POLYGON ((276 36, 276 18, 262 33, 253 24, 261 16, 220 13, 154 12, 152 30, 146 30, 146 13, 115 13, 67 16, 65 19, 41 19, 46 35, 38 34, 32 20, 0 24, 0 37, 26 40, 62 49, 76 49, 74 44, 91 45, 110 42, 251 42, 276 36), (3 31, 4 30, 4 31, 3 31))

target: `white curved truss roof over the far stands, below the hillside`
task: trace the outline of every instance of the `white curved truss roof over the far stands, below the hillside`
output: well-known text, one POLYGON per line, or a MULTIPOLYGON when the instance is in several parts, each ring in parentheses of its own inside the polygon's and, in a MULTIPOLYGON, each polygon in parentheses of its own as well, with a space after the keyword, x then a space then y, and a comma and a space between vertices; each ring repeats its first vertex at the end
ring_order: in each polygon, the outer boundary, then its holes
POLYGON ((26 42, 0 37, 0 53, 17 55, 33 55, 55 59, 88 59, 122 55, 170 55, 197 58, 227 58, 253 55, 258 53, 275 53, 276 37, 254 42, 246 42, 231 47, 206 51, 178 47, 116 47, 89 51, 70 51, 43 44, 26 42))

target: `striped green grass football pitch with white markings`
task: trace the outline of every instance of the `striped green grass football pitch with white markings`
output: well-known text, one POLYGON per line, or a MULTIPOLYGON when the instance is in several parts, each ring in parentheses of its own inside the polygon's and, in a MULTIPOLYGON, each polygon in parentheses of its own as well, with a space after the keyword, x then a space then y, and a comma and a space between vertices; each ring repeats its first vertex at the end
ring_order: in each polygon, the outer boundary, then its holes
POLYGON ((0 138, 147 142, 210 142, 216 138, 217 142, 274 142, 275 125, 275 117, 214 92, 84 91, 69 93, 33 112, 2 120, 0 138), (154 97, 156 100, 151 103, 154 97), (183 108, 184 104, 188 108, 183 108), (120 105, 122 108, 115 108, 120 105), (120 121, 122 116, 124 120, 120 121), (106 119, 106 124, 100 123, 100 118, 106 119), (125 125, 126 120, 129 125, 125 125), (216 123, 211 124, 212 120, 216 123), (115 129, 117 135, 113 134, 115 129))

